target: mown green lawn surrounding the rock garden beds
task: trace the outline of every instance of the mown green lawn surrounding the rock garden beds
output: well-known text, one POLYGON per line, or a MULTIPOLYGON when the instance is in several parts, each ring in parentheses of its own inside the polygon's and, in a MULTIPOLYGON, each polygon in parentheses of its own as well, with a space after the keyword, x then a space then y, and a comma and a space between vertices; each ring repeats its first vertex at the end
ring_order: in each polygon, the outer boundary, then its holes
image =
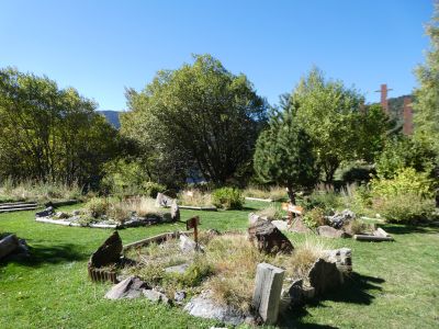
MULTIPOLYGON (((245 229, 240 212, 182 211, 200 215, 202 228, 245 229)), ((78 206, 76 206, 78 207, 78 206)), ((75 206, 66 207, 75 208, 75 206)), ((124 243, 181 224, 121 230, 124 243)), ((385 226, 395 242, 324 239, 352 249, 354 274, 337 294, 280 319, 283 328, 438 328, 439 230, 385 226)), ((190 317, 179 308, 146 299, 105 300, 111 284, 87 279, 87 261, 111 230, 63 227, 34 222, 34 212, 0 215, 0 231, 15 232, 32 247, 30 261, 0 263, 0 328, 210 328, 215 321, 190 317)), ((299 242, 303 235, 291 235, 299 242)))

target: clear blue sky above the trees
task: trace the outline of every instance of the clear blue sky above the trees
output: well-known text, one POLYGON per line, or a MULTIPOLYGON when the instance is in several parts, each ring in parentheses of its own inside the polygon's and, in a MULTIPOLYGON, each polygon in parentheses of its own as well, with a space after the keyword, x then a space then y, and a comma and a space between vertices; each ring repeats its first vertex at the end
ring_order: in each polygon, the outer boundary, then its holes
POLYGON ((313 65, 378 101, 412 92, 432 0, 0 0, 0 67, 125 109, 124 87, 210 53, 271 104, 313 65))

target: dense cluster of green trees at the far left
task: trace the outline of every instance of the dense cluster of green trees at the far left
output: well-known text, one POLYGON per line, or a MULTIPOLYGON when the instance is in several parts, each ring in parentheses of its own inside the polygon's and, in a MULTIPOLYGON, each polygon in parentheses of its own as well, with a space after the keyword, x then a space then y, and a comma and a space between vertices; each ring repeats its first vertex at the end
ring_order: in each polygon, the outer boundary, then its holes
POLYGON ((119 147, 97 104, 46 77, 0 70, 0 178, 95 188, 119 147))

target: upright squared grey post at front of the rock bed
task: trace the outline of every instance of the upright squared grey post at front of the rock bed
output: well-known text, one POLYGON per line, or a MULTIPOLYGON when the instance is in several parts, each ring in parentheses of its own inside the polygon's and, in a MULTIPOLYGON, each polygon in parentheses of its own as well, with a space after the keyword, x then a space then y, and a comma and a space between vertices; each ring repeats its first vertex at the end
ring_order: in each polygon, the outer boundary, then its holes
POLYGON ((268 263, 257 266, 252 306, 267 325, 278 320, 284 272, 268 263))

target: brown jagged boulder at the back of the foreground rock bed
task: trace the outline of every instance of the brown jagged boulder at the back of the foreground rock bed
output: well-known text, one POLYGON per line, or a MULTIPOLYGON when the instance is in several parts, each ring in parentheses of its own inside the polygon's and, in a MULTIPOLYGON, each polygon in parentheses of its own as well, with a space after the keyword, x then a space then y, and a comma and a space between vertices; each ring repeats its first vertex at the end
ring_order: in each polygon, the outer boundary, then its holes
POLYGON ((270 222, 258 219, 248 229, 249 239, 257 242, 259 251, 267 253, 291 253, 291 241, 270 222))

